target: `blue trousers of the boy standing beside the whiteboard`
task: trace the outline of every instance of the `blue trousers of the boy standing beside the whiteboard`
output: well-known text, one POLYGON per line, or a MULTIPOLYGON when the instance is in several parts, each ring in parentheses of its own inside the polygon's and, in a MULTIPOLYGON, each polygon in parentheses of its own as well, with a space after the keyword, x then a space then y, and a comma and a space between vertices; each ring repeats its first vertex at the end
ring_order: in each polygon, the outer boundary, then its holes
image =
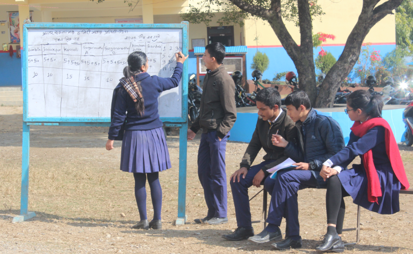
POLYGON ((204 188, 207 217, 227 217, 225 151, 228 134, 219 141, 216 131, 203 133, 198 150, 198 177, 204 188))

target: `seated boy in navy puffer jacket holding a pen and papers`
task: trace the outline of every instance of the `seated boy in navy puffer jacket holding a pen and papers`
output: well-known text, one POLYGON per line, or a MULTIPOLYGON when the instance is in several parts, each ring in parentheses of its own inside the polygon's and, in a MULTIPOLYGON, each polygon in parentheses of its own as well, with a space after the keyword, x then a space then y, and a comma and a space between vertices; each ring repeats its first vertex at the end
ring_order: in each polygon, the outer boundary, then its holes
POLYGON ((276 179, 267 178, 264 187, 271 195, 268 208, 268 226, 248 240, 262 243, 281 240, 279 228, 286 218, 288 232, 281 242, 271 244, 277 250, 300 248, 300 224, 298 222, 298 190, 322 188, 326 182, 320 177, 323 163, 339 152, 344 145, 343 133, 338 123, 330 117, 317 114, 311 108, 310 99, 304 91, 294 91, 285 100, 287 114, 295 122, 297 143, 289 142, 280 135, 273 135, 272 144, 284 147, 285 153, 297 165, 294 170, 278 172, 276 179))

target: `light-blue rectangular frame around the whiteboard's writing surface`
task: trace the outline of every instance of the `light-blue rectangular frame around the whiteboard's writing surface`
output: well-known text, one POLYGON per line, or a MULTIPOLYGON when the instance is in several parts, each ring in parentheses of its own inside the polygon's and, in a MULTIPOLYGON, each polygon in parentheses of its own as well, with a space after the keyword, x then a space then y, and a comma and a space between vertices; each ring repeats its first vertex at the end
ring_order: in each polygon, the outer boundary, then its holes
MULTIPOLYGON (((23 49, 21 52, 21 75, 23 87, 23 109, 28 109, 28 48, 27 33, 32 29, 182 29, 182 53, 188 54, 188 24, 92 24, 92 23, 29 23, 23 26, 23 49)), ((163 122, 185 123, 188 118, 187 94, 188 94, 188 71, 187 63, 184 63, 182 73, 182 114, 181 117, 161 117, 163 122)), ((24 122, 99 122, 110 123, 110 117, 29 117, 28 110, 23 110, 24 122)))

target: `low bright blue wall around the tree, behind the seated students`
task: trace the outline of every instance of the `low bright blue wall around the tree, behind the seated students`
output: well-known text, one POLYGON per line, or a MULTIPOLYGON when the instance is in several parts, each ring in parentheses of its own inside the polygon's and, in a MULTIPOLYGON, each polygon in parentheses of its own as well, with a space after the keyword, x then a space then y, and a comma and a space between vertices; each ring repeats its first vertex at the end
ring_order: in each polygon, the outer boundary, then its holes
MULTIPOLYGON (((405 131, 404 123, 402 121, 404 109, 392 109, 383 110, 383 118, 390 124, 394 137, 397 142, 404 141, 403 133, 405 131)), ((343 130, 344 140, 347 142, 350 139, 350 128, 353 122, 350 120, 349 116, 343 112, 320 112, 319 114, 332 117, 338 122, 341 129, 343 130)), ((257 123, 258 114, 257 113, 237 113, 237 121, 234 127, 231 129, 231 136, 229 140, 247 142, 251 140, 252 133, 255 129, 255 124, 257 123)))

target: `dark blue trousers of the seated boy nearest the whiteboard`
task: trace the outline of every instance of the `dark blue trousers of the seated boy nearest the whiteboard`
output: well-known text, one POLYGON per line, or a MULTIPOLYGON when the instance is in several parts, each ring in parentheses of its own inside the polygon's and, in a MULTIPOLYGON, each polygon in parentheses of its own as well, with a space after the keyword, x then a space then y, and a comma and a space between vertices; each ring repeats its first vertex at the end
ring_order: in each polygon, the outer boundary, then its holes
POLYGON ((261 168, 268 163, 275 161, 264 161, 249 168, 245 178, 240 177, 240 181, 230 180, 232 199, 234 200, 235 216, 238 227, 251 227, 251 211, 249 210, 248 188, 252 186, 252 180, 261 168))

